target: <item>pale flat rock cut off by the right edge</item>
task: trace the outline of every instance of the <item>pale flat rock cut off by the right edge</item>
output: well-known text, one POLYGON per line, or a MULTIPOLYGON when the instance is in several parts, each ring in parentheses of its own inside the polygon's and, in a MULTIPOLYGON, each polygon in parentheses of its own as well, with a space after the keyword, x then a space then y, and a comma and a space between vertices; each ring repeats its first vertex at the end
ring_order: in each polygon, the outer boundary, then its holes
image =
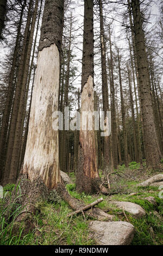
POLYGON ((146 186, 154 186, 154 187, 159 187, 163 185, 163 174, 157 174, 154 175, 153 177, 139 183, 137 186, 139 187, 146 187, 146 186))

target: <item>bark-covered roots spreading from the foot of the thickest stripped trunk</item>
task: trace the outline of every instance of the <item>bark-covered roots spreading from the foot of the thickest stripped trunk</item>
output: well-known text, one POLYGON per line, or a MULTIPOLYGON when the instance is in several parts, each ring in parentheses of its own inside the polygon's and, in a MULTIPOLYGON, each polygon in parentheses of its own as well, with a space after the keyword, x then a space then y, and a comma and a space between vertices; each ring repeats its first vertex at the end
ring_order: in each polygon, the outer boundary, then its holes
MULTIPOLYGON (((73 198, 67 192, 65 186, 61 183, 58 184, 56 188, 59 196, 64 199, 73 210, 77 210, 79 208, 83 208, 85 204, 80 200, 73 198)), ((20 179, 18 179, 17 184, 15 186, 14 191, 12 192, 11 199, 7 199, 6 205, 8 206, 8 211, 5 216, 8 219, 10 213, 13 212, 20 205, 22 206, 20 209, 20 213, 15 218, 15 233, 20 228, 20 224, 24 221, 24 233, 28 233, 30 229, 33 228, 32 224, 32 216, 36 212, 36 204, 41 200, 48 199, 49 191, 47 190, 43 180, 40 177, 35 178, 33 182, 31 182, 27 175, 21 175, 20 179)), ((112 220, 112 215, 106 214, 104 211, 98 208, 91 208, 85 212, 87 216, 96 218, 98 221, 102 220, 112 220)))

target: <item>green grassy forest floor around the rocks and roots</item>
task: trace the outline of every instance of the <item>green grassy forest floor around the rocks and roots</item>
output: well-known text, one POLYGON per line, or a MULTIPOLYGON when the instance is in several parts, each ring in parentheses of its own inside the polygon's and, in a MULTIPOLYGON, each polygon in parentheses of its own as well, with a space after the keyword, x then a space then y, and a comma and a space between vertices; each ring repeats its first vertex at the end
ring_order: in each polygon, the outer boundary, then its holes
MULTIPOLYGON (((82 200, 85 204, 90 204, 96 199, 103 197, 103 202, 96 207, 108 214, 114 215, 113 221, 128 221, 135 227, 134 239, 131 245, 162 245, 162 220, 163 220, 163 200, 159 198, 159 188, 137 187, 136 185, 147 178, 160 172, 140 169, 138 163, 132 162, 129 168, 124 165, 118 167, 118 172, 110 176, 110 196, 101 194, 86 195, 76 192, 75 174, 70 173, 72 184, 66 185, 72 197, 82 200), (155 198, 156 205, 149 203, 146 197, 155 198), (118 209, 111 201, 127 201, 136 203, 146 211, 146 216, 135 218, 128 212, 118 209)), ((102 180, 104 175, 99 172, 102 180)), ((4 194, 12 191, 13 184, 4 187, 4 194)), ((2 204, 2 201, 0 203, 2 204)), ((72 209, 59 196, 55 197, 55 202, 45 201, 37 204, 36 215, 32 217, 34 229, 27 235, 23 234, 22 227, 17 234, 12 234, 14 218, 19 214, 20 208, 17 206, 12 212, 12 221, 6 223, 4 219, 5 209, 0 207, 0 245, 96 245, 96 241, 91 239, 89 223, 92 218, 84 216, 82 213, 67 217, 72 209)))

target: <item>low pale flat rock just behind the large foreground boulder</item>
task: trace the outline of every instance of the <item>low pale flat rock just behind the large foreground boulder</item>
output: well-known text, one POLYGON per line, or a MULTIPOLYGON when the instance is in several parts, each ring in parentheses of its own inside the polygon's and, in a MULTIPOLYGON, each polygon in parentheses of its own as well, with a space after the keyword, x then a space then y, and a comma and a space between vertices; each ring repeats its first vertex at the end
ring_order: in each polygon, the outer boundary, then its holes
POLYGON ((146 215, 145 210, 138 204, 130 203, 130 202, 111 202, 115 204, 117 208, 124 209, 124 211, 129 212, 129 214, 134 215, 136 218, 141 218, 146 215))

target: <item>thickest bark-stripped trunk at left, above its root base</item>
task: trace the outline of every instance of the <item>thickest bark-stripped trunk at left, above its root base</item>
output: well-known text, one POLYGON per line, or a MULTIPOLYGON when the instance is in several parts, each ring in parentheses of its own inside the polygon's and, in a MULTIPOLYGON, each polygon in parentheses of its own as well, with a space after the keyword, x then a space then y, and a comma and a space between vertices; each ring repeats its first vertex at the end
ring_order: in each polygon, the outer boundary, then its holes
POLYGON ((49 189, 60 182, 58 131, 53 123, 54 112, 58 111, 63 10, 63 0, 45 2, 23 164, 23 174, 31 181, 40 176, 49 189))

